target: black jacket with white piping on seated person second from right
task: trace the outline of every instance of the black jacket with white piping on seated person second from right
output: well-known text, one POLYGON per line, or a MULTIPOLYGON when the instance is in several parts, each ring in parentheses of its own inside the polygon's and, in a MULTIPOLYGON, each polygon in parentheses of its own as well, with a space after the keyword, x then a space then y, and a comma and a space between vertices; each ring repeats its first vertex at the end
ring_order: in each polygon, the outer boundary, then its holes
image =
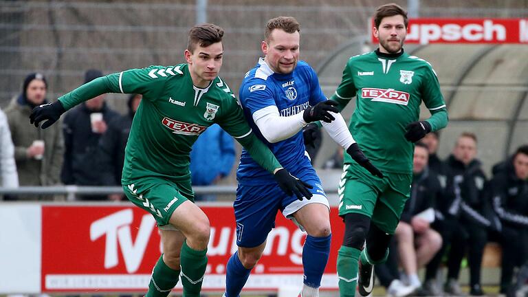
POLYGON ((491 207, 483 195, 486 177, 481 162, 474 159, 465 166, 450 155, 445 160, 447 184, 445 188, 445 217, 461 218, 479 225, 492 225, 489 218, 491 207))

